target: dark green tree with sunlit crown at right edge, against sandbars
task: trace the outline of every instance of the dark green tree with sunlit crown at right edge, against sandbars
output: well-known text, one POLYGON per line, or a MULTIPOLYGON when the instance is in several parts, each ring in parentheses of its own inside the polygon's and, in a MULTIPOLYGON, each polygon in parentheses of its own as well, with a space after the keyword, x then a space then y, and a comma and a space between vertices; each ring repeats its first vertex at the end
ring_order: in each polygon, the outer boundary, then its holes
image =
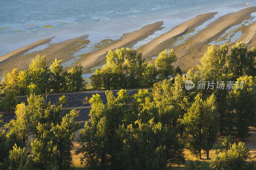
POLYGON ((230 73, 233 73, 237 78, 249 73, 249 76, 255 75, 255 57, 256 50, 252 48, 247 52, 244 42, 236 43, 236 46, 231 48, 229 57, 227 58, 227 66, 230 73))

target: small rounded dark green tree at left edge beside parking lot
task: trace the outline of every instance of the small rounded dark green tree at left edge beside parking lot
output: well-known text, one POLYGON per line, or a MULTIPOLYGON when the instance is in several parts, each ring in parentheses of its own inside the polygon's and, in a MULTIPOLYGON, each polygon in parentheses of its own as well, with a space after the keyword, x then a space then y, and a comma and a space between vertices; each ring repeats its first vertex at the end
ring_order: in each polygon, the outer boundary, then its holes
POLYGON ((15 106, 19 104, 19 99, 16 97, 15 90, 6 92, 6 96, 1 99, 0 107, 4 110, 14 110, 15 106))

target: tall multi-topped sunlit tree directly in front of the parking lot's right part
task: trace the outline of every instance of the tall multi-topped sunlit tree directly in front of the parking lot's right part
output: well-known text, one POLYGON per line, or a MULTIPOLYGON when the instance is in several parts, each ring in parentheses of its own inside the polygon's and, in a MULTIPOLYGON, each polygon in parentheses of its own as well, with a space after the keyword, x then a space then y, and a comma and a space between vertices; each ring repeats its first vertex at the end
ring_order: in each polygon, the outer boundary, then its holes
POLYGON ((120 167, 117 154, 122 141, 117 136, 119 124, 127 114, 129 96, 125 90, 118 92, 115 98, 113 92, 106 91, 107 104, 103 104, 100 95, 93 95, 89 100, 92 109, 90 111, 91 126, 87 123, 80 130, 79 142, 81 148, 76 154, 82 153, 81 163, 91 167, 106 169, 108 167, 120 167))

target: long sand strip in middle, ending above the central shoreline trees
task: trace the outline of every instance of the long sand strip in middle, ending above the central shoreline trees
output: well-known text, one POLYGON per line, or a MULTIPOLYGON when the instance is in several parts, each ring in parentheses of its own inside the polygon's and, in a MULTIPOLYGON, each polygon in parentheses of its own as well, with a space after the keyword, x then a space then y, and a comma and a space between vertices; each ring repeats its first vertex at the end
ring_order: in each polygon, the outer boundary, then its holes
POLYGON ((149 35, 155 33, 157 30, 161 29, 161 26, 163 24, 163 21, 158 21, 153 24, 143 26, 139 30, 133 31, 131 33, 125 33, 120 38, 120 40, 114 43, 113 45, 104 48, 96 53, 93 53, 92 55, 87 56, 85 60, 81 61, 81 65, 83 65, 85 70, 88 70, 96 66, 96 64, 99 63, 100 60, 103 60, 103 55, 107 54, 109 50, 114 50, 116 48, 122 47, 131 47, 133 44, 140 41, 140 39, 144 39, 149 35))

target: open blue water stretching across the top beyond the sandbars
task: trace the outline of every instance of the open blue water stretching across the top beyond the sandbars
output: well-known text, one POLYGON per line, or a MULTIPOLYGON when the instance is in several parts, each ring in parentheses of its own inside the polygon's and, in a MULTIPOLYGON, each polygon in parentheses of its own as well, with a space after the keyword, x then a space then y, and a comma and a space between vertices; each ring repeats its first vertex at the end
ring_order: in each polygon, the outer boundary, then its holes
MULTIPOLYGON (((250 5, 255 4, 253 1, 248 2, 250 5)), ((0 55, 55 35, 57 37, 52 42, 92 33, 106 37, 120 36, 159 20, 179 24, 198 14, 223 7, 237 11, 244 8, 244 3, 232 0, 2 0, 0 55), (44 28, 46 25, 54 27, 44 28)), ((44 46, 39 49, 42 48, 44 46)))

